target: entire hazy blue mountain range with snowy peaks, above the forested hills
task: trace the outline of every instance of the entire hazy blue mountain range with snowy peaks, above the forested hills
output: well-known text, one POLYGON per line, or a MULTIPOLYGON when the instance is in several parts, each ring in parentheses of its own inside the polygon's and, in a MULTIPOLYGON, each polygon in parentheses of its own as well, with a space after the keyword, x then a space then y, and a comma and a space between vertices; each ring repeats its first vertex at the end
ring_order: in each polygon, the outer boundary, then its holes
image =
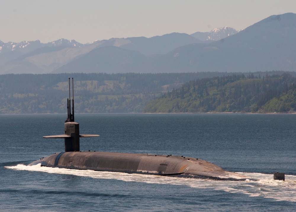
POLYGON ((272 15, 237 32, 112 38, 81 44, 60 39, 3 43, 0 74, 295 71, 296 14, 272 15))

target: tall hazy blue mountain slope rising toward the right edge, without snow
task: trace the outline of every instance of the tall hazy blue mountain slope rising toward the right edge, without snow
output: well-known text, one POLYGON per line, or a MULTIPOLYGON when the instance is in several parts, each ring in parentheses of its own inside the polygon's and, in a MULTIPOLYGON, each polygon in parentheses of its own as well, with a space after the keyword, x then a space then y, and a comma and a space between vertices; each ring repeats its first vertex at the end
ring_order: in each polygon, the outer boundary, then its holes
POLYGON ((273 15, 224 39, 177 48, 160 65, 171 72, 295 71, 295 34, 296 14, 273 15))

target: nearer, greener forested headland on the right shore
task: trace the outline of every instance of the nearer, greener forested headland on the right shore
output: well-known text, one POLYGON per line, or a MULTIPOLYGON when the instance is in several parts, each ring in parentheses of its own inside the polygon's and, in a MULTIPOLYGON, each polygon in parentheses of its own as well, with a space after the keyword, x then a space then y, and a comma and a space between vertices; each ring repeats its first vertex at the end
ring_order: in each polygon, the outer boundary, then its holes
POLYGON ((256 76, 233 74, 192 80, 150 101, 144 113, 286 113, 295 110, 296 78, 290 73, 268 75, 266 72, 256 76))

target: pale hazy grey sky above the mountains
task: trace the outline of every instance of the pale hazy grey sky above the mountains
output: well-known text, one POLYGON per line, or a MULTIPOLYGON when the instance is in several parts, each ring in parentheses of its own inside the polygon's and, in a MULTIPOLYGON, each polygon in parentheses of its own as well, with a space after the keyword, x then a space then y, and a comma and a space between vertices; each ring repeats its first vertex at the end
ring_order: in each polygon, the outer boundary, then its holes
POLYGON ((270 15, 296 13, 295 0, 0 0, 0 40, 81 43, 112 37, 244 29, 270 15))

